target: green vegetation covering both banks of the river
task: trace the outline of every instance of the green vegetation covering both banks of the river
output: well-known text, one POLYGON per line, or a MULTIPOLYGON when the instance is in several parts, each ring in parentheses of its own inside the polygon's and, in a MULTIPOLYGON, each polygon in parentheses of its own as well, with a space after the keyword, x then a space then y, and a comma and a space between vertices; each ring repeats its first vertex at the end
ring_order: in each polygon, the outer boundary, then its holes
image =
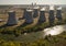
MULTIPOLYGON (((64 46, 66 43, 66 33, 62 33, 57 36, 45 36, 44 38, 36 39, 34 42, 20 42, 14 41, 16 37, 23 33, 38 32, 43 31, 46 27, 54 25, 66 24, 66 19, 63 22, 55 21, 53 25, 50 25, 48 22, 37 24, 35 26, 19 26, 15 28, 11 27, 1 27, 0 28, 0 46, 64 46), (14 38, 15 37, 15 38, 14 38)), ((34 36, 35 37, 35 36, 34 36)), ((36 37, 35 37, 36 38, 36 37)), ((19 39, 19 38, 18 38, 19 39)))

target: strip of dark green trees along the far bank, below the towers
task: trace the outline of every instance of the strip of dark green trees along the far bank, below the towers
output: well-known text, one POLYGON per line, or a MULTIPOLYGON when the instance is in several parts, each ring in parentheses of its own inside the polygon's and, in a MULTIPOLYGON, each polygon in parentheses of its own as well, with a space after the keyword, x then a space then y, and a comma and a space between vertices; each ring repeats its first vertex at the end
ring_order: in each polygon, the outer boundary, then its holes
POLYGON ((15 28, 11 28, 11 27, 1 27, 0 28, 0 33, 1 34, 13 34, 15 36, 19 36, 23 33, 31 33, 31 32, 38 32, 38 31, 43 31, 46 27, 50 26, 54 26, 54 25, 62 25, 62 24, 66 24, 66 19, 63 20, 62 22, 59 21, 55 21, 55 23, 53 23, 52 25, 50 25, 48 22, 44 22, 41 24, 37 24, 35 26, 18 26, 15 28))

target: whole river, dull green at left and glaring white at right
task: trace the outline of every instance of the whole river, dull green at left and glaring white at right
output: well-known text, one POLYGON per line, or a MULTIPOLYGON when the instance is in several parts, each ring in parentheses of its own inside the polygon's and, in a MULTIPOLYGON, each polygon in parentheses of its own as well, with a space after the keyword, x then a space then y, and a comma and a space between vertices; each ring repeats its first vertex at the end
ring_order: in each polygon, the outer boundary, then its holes
POLYGON ((46 35, 59 35, 61 33, 66 32, 66 25, 55 25, 52 27, 47 27, 44 28, 43 31, 38 31, 38 32, 32 32, 32 33, 24 33, 18 37, 13 36, 13 35, 2 35, 0 34, 0 37, 3 37, 3 39, 13 39, 13 41, 18 41, 18 42, 34 42, 37 41, 40 38, 44 38, 46 35))

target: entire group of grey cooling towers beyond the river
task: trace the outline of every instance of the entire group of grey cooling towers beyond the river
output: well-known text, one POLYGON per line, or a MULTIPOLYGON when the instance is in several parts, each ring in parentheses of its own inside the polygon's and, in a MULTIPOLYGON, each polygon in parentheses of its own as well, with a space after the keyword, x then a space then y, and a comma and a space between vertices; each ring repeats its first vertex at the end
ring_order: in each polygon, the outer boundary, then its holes
MULTIPOLYGON (((46 22, 46 7, 33 7, 31 8, 24 8, 23 9, 23 19, 25 20, 25 23, 33 23, 34 22, 34 18, 38 16, 38 23, 44 23, 46 22)), ((54 5, 50 5, 50 9, 47 9, 47 13, 48 13, 48 22, 50 23, 54 23, 55 21, 55 7, 54 5)), ((15 12, 14 11, 8 11, 9 18, 7 21, 7 25, 15 25, 18 24, 16 18, 15 18, 15 12)), ((22 19, 22 20, 23 20, 22 19)), ((56 8, 56 19, 58 21, 62 21, 62 7, 56 8)))

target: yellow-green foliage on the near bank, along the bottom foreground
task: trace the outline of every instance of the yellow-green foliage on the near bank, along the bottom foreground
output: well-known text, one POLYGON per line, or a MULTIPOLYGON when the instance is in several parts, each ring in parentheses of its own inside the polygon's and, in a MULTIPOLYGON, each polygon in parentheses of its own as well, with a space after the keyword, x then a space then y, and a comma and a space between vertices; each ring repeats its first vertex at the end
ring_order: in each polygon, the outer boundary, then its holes
POLYGON ((34 42, 14 42, 0 39, 0 46, 63 46, 66 45, 66 32, 57 36, 45 36, 44 38, 34 42))

